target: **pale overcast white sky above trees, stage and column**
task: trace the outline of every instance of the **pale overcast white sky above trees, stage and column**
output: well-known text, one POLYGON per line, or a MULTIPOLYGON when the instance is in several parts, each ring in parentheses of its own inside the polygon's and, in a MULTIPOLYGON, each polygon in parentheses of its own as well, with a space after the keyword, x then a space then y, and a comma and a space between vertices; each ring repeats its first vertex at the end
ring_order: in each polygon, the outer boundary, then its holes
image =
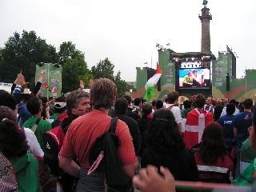
MULTIPOLYGON (((156 44, 175 52, 201 51, 203 0, 0 0, 0 47, 14 32, 34 30, 58 50, 72 42, 88 68, 109 58, 114 75, 136 81, 136 67, 156 69, 156 44), (170 43, 170 46, 166 46, 170 43), (144 64, 147 62, 147 65, 144 64)), ((256 1, 208 0, 211 51, 228 45, 237 58, 237 75, 256 69, 256 1)), ((42 61, 43 62, 43 61, 42 61)))

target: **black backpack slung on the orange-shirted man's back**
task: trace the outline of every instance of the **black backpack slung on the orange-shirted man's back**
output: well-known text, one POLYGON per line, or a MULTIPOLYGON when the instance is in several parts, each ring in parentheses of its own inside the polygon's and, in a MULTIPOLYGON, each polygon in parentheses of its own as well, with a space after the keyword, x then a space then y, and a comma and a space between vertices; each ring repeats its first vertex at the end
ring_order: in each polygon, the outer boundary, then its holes
POLYGON ((107 189, 111 191, 126 192, 132 186, 132 180, 123 173, 121 162, 118 157, 117 149, 119 139, 118 136, 114 134, 117 122, 117 117, 112 118, 110 130, 106 131, 105 134, 102 134, 96 139, 89 156, 91 168, 88 174, 94 170, 100 172, 103 163, 107 189), (98 163, 101 156, 103 156, 102 161, 98 163), (97 166, 97 164, 98 167, 95 168, 94 166, 97 166))

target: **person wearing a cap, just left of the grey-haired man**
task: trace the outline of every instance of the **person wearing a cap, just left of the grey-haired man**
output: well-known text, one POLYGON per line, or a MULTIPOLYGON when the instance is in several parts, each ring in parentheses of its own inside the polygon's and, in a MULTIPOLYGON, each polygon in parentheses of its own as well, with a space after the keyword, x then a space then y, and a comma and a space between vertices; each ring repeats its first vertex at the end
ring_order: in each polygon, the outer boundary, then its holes
POLYGON ((55 126, 58 126, 58 122, 61 122, 64 118, 67 118, 66 98, 64 98, 62 96, 55 98, 54 110, 55 110, 56 114, 50 116, 50 118, 48 119, 48 122, 50 122, 50 124, 52 125, 53 128, 55 126), (56 120, 57 120, 57 122, 56 122, 56 120))

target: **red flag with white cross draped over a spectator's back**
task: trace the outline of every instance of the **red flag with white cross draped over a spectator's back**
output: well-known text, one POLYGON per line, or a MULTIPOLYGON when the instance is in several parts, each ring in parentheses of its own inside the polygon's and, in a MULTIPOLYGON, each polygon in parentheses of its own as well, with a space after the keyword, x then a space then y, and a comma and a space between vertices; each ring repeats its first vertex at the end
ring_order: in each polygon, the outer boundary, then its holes
POLYGON ((214 121, 210 111, 204 110, 204 112, 200 113, 198 109, 194 109, 187 114, 184 141, 189 149, 201 142, 203 130, 209 122, 214 121))

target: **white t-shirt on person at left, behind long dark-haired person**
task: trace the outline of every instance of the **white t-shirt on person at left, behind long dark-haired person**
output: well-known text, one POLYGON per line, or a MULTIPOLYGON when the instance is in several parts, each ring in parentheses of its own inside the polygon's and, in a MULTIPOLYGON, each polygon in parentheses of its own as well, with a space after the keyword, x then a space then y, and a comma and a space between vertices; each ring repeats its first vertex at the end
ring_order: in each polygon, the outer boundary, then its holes
POLYGON ((35 137, 34 132, 29 128, 24 128, 27 144, 30 146, 29 152, 43 158, 43 151, 39 146, 38 139, 35 137))

